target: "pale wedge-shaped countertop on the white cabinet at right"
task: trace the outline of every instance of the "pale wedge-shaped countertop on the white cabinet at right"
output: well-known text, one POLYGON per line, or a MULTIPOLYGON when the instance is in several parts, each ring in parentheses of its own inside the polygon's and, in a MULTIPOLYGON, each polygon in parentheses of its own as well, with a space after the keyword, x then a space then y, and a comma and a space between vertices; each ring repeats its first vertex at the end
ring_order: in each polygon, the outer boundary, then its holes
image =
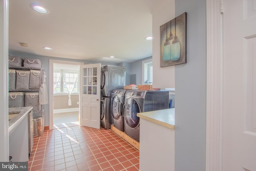
POLYGON ((137 116, 158 125, 174 129, 175 108, 137 113, 137 116))

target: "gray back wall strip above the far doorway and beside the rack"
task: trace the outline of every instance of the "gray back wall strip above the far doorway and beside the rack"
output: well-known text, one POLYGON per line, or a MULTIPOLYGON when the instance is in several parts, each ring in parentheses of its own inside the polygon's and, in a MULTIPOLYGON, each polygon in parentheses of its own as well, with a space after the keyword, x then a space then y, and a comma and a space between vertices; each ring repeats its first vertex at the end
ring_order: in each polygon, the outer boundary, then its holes
MULTIPOLYGON (((48 57, 48 56, 39 56, 39 55, 31 55, 31 54, 22 54, 20 52, 12 52, 9 51, 10 55, 14 56, 20 56, 21 58, 32 58, 32 59, 40 59, 42 64, 44 65, 44 70, 46 72, 46 86, 47 86, 47 94, 49 97, 49 60, 63 60, 63 61, 73 61, 73 62, 84 62, 84 64, 95 64, 98 62, 91 62, 91 61, 85 61, 85 60, 72 60, 72 59, 66 59, 66 58, 54 58, 54 57, 48 57)), ((102 62, 103 65, 117 65, 114 63, 106 63, 102 62)), ((48 98, 49 99, 49 98, 48 98)), ((44 126, 49 126, 49 104, 44 105, 44 126)))

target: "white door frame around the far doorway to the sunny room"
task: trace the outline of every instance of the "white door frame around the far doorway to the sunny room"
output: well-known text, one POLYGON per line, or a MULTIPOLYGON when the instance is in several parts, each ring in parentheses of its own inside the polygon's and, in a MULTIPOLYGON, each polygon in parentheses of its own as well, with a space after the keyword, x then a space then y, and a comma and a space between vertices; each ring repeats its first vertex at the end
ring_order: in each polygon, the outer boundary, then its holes
MULTIPOLYGON (((63 60, 49 60, 49 129, 53 127, 53 65, 66 64, 66 65, 84 65, 84 62, 72 62, 63 60)), ((79 77, 80 79, 80 77, 79 77)))

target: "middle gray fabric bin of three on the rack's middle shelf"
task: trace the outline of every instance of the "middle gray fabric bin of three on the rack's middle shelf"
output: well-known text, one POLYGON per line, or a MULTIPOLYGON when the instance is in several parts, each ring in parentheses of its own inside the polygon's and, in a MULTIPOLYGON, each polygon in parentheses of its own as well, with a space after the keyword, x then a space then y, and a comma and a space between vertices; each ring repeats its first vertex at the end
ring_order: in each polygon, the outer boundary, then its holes
POLYGON ((29 88, 30 71, 16 70, 16 89, 29 88))

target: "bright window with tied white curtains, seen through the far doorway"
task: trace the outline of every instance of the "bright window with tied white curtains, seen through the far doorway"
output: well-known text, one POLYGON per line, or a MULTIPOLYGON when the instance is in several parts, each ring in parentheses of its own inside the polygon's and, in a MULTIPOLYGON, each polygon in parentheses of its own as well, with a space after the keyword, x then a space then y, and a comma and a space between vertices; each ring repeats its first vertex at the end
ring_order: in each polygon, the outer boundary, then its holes
MULTIPOLYGON (((79 93, 79 70, 64 70, 58 64, 54 64, 53 84, 54 94, 79 93), (56 66, 56 67, 55 67, 56 66), (55 69, 56 68, 56 69, 55 69)), ((62 65, 62 68, 67 66, 62 65)), ((70 68, 70 67, 68 67, 70 68)))

